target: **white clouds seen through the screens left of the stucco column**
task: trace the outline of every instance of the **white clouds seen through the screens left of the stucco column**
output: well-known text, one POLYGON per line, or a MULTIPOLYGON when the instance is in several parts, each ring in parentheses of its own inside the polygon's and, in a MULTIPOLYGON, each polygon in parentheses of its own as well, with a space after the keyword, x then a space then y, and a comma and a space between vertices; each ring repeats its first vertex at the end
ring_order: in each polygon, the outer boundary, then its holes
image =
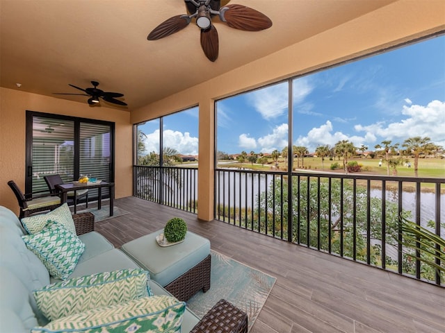
MULTIPOLYGON (((191 137, 190 133, 181 133, 177 130, 164 130, 163 146, 176 149, 181 155, 197 155, 198 138, 191 137)), ((145 138, 145 152, 159 153, 159 130, 149 133, 145 138)))

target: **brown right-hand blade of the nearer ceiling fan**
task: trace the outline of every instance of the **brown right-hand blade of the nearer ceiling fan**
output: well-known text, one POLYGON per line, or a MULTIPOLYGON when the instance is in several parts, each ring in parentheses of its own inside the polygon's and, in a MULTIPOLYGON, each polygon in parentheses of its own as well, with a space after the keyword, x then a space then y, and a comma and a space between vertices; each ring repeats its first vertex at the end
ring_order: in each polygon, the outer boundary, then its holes
POLYGON ((261 31, 272 26, 272 21, 262 12, 236 4, 221 8, 220 19, 231 28, 244 31, 261 31))

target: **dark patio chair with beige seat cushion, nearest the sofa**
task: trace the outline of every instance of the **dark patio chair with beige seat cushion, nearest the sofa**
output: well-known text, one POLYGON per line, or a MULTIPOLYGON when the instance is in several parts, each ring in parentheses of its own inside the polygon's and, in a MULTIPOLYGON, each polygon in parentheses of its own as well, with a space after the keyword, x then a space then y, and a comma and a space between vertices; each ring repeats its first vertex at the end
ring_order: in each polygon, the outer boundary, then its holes
POLYGON ((33 196, 32 194, 23 194, 14 180, 8 182, 9 187, 13 190, 17 201, 19 202, 20 215, 22 219, 26 216, 37 212, 54 210, 60 206, 60 198, 54 195, 44 194, 44 196, 33 196))

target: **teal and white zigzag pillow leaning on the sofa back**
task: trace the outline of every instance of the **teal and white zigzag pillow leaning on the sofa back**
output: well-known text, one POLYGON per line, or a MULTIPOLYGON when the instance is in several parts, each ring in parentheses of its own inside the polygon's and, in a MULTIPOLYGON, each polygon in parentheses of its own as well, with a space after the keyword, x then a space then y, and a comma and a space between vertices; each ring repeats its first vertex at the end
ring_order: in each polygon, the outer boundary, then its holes
POLYGON ((65 280, 76 268, 85 244, 63 225, 51 222, 36 234, 22 236, 29 248, 54 278, 65 280))

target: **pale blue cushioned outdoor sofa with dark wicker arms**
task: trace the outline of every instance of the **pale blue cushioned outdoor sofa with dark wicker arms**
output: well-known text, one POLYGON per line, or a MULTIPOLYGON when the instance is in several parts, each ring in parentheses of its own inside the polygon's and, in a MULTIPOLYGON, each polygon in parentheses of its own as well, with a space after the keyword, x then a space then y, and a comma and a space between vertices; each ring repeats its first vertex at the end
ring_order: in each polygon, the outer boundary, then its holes
MULTIPOLYGON (((73 278, 95 273, 100 275, 103 272, 119 271, 124 268, 140 270, 138 265, 121 250, 114 248, 101 234, 93 231, 94 216, 91 213, 75 214, 73 219, 76 233, 85 244, 85 248, 74 271, 67 279, 75 280, 73 278)), ((30 330, 34 332, 33 327, 41 328, 47 325, 49 320, 42 314, 35 302, 33 291, 37 289, 41 291, 46 288, 45 286, 61 281, 50 276, 42 261, 26 246, 22 239, 26 234, 28 233, 17 216, 6 207, 0 206, 0 332, 19 333, 30 332, 30 330)), ((148 284, 149 290, 154 296, 163 295, 165 298, 171 296, 168 291, 153 280, 148 280, 148 284)), ((146 286, 147 284, 145 284, 146 286)), ((152 296, 148 298, 150 297, 152 296)), ((65 304, 69 302, 70 300, 63 300, 65 304)), ((204 316, 200 321, 200 318, 186 308, 181 318, 180 332, 214 332, 208 328, 212 325, 214 327, 227 326, 218 332, 247 332, 245 327, 247 319, 243 311, 232 307, 225 300, 218 302, 218 305, 209 312, 212 312, 211 315, 204 316)), ((96 327, 96 330, 88 332, 101 332, 102 328, 96 327)), ((52 331, 41 329, 38 332, 52 331)))

